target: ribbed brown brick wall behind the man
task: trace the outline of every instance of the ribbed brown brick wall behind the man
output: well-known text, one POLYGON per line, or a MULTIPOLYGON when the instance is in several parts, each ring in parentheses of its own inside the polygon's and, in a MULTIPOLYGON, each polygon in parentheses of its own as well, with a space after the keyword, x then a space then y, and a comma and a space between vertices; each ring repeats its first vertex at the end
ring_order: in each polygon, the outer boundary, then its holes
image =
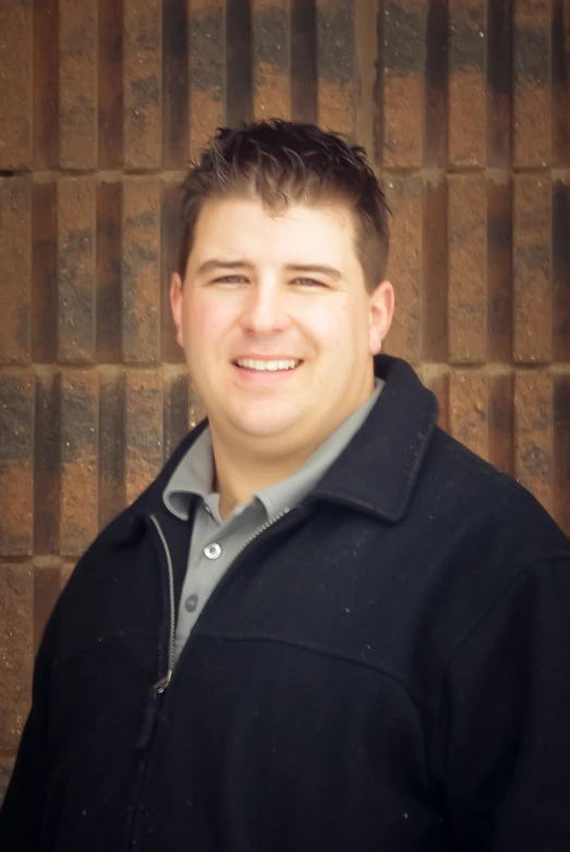
POLYGON ((0 41, 0 788, 77 555, 199 418, 167 287, 219 123, 366 146, 388 349, 570 532, 569 0, 9 0, 0 41))

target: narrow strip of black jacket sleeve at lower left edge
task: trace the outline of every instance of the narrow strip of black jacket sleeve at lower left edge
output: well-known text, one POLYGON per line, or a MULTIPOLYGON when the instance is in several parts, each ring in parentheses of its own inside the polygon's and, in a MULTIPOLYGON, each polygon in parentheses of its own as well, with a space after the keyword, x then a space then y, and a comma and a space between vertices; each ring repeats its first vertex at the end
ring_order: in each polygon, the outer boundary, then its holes
MULTIPOLYGON (((61 602, 61 599, 60 599, 61 602)), ((60 603, 48 621, 34 667, 32 709, 17 757, 0 809, 0 849, 2 852, 36 852, 46 800, 46 746, 48 689, 52 644, 60 603)))

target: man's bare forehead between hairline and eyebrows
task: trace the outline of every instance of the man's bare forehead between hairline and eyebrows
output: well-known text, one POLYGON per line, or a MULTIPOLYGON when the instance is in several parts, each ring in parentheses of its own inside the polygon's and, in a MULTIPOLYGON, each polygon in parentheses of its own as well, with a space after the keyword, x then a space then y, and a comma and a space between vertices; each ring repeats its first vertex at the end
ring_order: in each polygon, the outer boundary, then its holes
POLYGON ((342 204, 291 204, 275 213, 257 199, 208 200, 196 223, 191 262, 228 255, 258 263, 347 264, 354 256, 353 227, 342 204))

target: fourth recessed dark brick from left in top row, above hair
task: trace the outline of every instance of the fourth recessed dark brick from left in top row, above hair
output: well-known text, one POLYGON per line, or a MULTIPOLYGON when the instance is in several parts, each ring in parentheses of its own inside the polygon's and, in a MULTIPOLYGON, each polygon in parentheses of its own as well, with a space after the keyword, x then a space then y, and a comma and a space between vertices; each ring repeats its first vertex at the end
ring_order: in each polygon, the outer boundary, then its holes
POLYGON ((252 9, 250 0, 227 0, 226 117, 238 127, 253 117, 252 9))

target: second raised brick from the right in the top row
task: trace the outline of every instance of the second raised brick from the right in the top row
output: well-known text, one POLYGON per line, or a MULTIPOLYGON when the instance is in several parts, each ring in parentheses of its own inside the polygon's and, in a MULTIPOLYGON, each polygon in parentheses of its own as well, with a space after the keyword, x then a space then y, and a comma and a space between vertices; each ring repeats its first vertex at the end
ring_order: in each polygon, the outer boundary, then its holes
POLYGON ((486 0, 450 0, 449 161, 486 161, 486 0))

